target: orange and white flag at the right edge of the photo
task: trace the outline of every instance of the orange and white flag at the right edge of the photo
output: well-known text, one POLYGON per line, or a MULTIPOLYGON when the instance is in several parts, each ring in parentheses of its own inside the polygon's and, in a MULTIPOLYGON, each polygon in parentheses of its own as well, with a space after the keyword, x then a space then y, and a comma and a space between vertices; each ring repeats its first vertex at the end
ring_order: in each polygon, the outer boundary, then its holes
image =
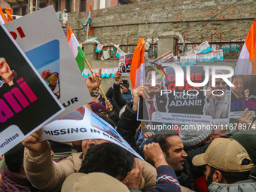
POLYGON ((255 74, 256 73, 256 19, 254 19, 251 29, 242 46, 239 59, 236 62, 235 74, 255 74))

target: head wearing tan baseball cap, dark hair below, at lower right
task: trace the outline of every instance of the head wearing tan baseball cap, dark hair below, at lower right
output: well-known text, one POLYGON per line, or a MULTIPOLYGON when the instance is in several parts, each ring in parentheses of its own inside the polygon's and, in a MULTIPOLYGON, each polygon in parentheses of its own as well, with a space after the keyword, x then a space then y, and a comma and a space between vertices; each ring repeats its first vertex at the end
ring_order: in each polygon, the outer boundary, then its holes
POLYGON ((214 139, 206 152, 195 156, 192 163, 194 166, 210 166, 209 175, 206 175, 206 183, 207 179, 209 180, 207 177, 212 179, 211 176, 216 171, 220 172, 223 178, 219 182, 231 184, 245 180, 253 167, 245 148, 239 142, 226 138, 214 139))

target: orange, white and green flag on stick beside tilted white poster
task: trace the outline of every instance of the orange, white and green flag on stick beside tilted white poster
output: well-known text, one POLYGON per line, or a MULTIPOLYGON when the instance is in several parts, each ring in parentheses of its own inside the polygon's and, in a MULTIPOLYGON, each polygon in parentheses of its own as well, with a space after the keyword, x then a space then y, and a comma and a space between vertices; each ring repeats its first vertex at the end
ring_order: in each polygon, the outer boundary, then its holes
POLYGON ((75 38, 74 33, 72 32, 72 29, 68 29, 68 42, 69 46, 73 52, 73 55, 75 56, 75 60, 78 62, 78 67, 81 71, 81 73, 84 71, 84 59, 86 59, 86 56, 84 55, 84 51, 80 47, 77 38, 75 38))

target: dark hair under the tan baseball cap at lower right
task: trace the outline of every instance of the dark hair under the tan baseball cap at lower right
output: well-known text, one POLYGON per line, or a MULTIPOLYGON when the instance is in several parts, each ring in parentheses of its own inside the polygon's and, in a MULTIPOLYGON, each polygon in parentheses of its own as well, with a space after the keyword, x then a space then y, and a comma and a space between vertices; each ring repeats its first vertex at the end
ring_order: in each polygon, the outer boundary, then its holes
MULTIPOLYGON (((251 160, 244 159, 242 160, 242 165, 249 165, 251 163, 251 160)), ((221 172, 222 177, 227 181, 227 184, 233 184, 237 181, 242 181, 248 179, 250 175, 250 171, 248 172, 224 172, 219 169, 215 169, 214 167, 210 166, 210 173, 209 175, 213 175, 215 171, 221 172)))

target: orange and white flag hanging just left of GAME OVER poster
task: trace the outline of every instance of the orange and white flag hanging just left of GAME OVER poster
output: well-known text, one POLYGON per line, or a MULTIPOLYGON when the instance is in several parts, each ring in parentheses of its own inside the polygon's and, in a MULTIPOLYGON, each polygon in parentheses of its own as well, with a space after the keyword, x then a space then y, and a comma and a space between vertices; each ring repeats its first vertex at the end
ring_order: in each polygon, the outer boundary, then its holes
POLYGON ((139 44, 133 53, 133 60, 130 69, 130 78, 133 89, 139 87, 141 82, 143 81, 143 67, 144 64, 144 55, 145 55, 145 43, 144 39, 139 39, 139 44))

